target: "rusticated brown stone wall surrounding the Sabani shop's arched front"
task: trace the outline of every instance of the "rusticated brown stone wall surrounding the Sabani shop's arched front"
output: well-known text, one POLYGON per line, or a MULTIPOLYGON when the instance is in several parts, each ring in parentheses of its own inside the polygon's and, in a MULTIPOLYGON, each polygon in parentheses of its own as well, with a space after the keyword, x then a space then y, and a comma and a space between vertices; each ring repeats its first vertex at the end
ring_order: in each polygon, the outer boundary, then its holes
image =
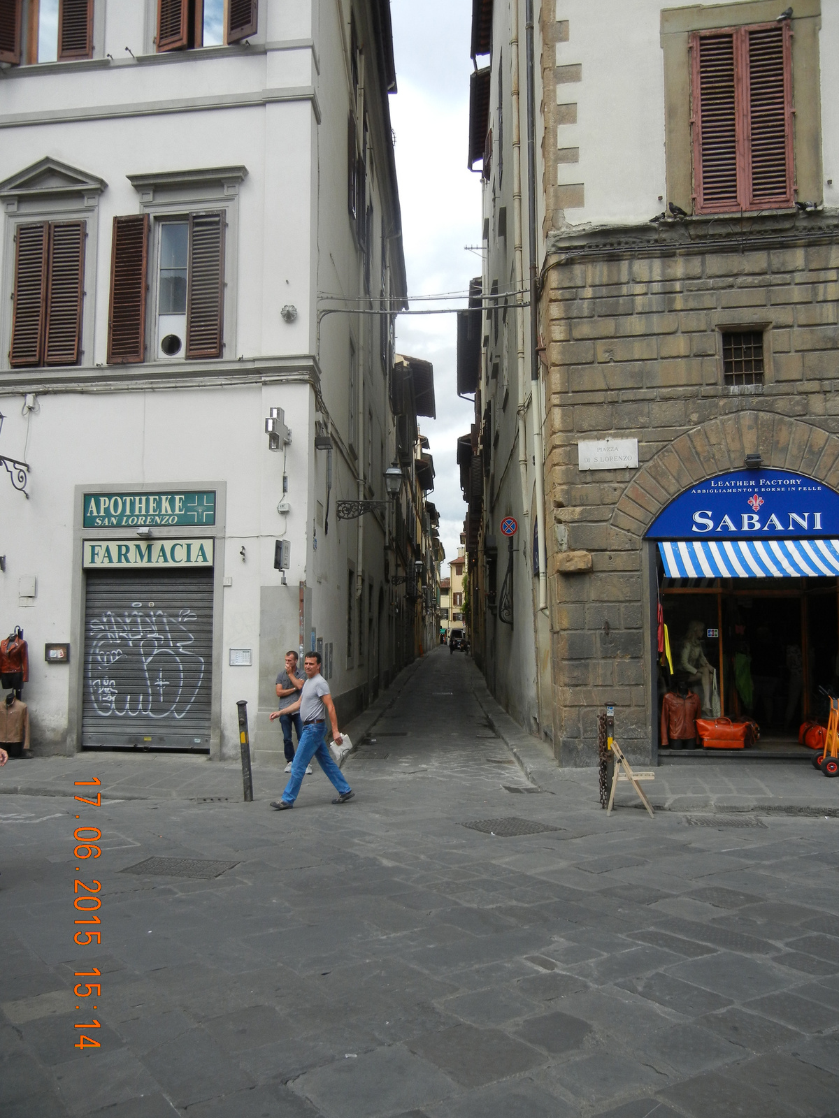
POLYGON ((630 756, 650 757, 654 582, 643 533, 673 496, 742 468, 752 452, 839 489, 839 222, 785 215, 753 219, 739 236, 736 222, 720 225, 550 245, 540 314, 562 764, 595 764, 605 703, 630 756), (723 382, 722 331, 738 326, 764 331, 763 386, 723 382), (577 442, 606 436, 638 438, 638 471, 581 473, 577 442))

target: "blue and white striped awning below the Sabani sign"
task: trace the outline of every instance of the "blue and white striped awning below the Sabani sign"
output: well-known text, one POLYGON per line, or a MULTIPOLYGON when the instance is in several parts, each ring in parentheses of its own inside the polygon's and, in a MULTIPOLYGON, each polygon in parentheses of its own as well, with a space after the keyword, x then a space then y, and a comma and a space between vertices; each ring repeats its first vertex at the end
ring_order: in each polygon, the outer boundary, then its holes
POLYGON ((659 551, 668 578, 839 575, 839 540, 673 540, 659 551))

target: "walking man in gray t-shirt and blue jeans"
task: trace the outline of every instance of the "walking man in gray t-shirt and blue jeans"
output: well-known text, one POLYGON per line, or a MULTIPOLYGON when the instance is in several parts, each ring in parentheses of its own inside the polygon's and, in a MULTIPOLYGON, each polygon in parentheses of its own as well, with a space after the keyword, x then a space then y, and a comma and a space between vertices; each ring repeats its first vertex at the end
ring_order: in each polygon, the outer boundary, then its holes
POLYGON ((291 707, 275 710, 271 714, 271 721, 275 718, 283 718, 300 711, 303 720, 303 736, 298 742, 298 751, 291 765, 291 779, 283 790, 283 798, 273 800, 271 806, 277 812, 286 811, 294 806, 298 798, 300 785, 303 783, 309 761, 318 758, 318 764, 334 785, 338 796, 333 804, 345 804, 352 799, 355 793, 347 784, 341 770, 332 759, 327 745, 327 720, 332 727, 332 738, 337 746, 340 746, 341 735, 338 732, 338 717, 334 711, 334 703, 329 691, 329 684, 320 674, 321 654, 319 652, 308 652, 303 657, 303 670, 305 672, 305 683, 300 692, 300 698, 291 707))

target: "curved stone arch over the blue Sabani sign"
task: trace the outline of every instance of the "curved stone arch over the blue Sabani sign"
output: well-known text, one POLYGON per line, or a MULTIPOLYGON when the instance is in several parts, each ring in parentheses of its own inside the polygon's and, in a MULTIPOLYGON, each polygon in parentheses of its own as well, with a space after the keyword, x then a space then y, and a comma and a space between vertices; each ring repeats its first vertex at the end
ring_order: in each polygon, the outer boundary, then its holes
POLYGON ((611 527, 618 530, 610 532, 612 542, 624 532, 640 542, 673 498, 716 474, 742 470, 747 454, 760 454, 764 466, 839 490, 839 437, 772 411, 739 411, 686 432, 638 472, 612 512, 611 527))

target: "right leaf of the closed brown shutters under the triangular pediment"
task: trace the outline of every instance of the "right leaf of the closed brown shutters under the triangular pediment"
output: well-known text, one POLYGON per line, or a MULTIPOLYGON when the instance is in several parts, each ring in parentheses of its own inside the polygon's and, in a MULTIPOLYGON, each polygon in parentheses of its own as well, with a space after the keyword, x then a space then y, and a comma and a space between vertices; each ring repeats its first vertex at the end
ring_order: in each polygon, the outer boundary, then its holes
POLYGON ((85 235, 84 221, 50 227, 44 364, 78 364, 81 358, 85 235))

